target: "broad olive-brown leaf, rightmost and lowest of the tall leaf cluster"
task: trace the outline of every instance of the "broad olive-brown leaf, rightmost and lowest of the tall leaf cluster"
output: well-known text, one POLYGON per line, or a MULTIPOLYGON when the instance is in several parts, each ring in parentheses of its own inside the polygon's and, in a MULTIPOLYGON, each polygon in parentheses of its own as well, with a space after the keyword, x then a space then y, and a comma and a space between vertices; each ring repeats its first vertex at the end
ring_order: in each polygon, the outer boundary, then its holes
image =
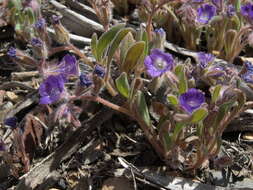
POLYGON ((145 42, 136 42, 134 43, 127 51, 125 59, 122 65, 122 71, 126 73, 131 72, 134 67, 137 65, 139 59, 143 55, 145 48, 145 42))

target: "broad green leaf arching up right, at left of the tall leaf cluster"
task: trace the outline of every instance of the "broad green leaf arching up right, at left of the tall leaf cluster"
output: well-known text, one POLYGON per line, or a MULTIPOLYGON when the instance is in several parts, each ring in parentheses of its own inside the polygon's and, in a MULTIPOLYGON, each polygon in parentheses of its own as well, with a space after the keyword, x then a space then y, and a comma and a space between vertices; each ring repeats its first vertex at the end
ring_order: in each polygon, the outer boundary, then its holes
POLYGON ((111 44, 118 31, 124 26, 125 24, 118 24, 116 26, 113 26, 109 31, 102 34, 97 44, 97 61, 100 61, 102 59, 105 50, 111 44))

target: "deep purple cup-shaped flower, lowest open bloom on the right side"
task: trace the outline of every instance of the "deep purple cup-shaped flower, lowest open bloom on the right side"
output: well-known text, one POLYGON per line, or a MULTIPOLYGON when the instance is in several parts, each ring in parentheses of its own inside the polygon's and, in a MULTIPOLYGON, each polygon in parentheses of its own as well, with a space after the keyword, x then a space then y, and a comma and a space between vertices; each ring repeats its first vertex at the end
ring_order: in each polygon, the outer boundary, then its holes
POLYGON ((204 93, 196 88, 191 88, 186 93, 179 96, 179 103, 181 107, 189 113, 198 109, 204 102, 204 93))

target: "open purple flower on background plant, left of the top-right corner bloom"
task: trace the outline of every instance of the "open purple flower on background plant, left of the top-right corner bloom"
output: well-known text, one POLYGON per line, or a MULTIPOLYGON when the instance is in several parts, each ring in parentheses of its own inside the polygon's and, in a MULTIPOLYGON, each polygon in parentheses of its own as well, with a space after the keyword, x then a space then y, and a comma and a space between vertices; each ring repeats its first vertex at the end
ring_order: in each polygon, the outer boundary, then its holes
POLYGON ((216 15, 216 7, 210 4, 204 4, 197 9, 197 21, 201 24, 208 22, 216 15))

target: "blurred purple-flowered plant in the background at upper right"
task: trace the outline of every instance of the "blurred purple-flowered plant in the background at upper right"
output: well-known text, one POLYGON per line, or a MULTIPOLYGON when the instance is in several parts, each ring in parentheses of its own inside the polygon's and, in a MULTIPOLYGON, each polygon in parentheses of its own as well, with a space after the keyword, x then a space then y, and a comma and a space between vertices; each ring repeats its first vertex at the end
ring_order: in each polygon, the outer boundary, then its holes
POLYGON ((246 45, 251 44, 250 10, 253 4, 250 1, 246 3, 240 0, 154 2, 155 7, 159 9, 151 9, 152 3, 146 3, 139 8, 140 18, 147 22, 148 33, 148 28, 151 28, 150 20, 153 20, 166 30, 169 41, 190 50, 206 50, 230 63, 233 63, 246 45), (158 6, 159 2, 165 4, 158 6))

